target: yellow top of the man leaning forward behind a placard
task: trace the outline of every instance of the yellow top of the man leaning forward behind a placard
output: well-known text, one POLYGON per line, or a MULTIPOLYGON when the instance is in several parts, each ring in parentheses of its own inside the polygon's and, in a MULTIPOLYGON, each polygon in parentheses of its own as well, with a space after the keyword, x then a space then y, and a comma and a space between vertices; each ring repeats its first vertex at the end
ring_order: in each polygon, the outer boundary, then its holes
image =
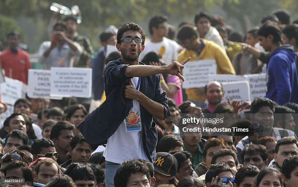
MULTIPOLYGON (((181 63, 188 57, 191 57, 192 61, 201 59, 215 59, 217 64, 217 74, 236 74, 229 57, 219 45, 215 44, 213 41, 208 41, 203 38, 198 38, 198 40, 204 41, 205 43, 205 47, 201 51, 200 56, 198 57, 197 52, 193 50, 184 49, 178 55, 178 62, 181 63)), ((196 95, 195 90, 196 88, 186 89, 185 92, 187 94, 187 98, 194 101, 204 102, 204 94, 196 95)))

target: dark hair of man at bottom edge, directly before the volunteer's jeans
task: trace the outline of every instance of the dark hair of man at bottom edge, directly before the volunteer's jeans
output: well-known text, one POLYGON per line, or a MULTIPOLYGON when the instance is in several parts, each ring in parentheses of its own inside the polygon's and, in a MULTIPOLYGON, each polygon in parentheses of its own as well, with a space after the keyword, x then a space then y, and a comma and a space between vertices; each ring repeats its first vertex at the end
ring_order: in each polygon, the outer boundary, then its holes
POLYGON ((125 187, 128 177, 131 176, 132 173, 142 173, 150 180, 149 169, 144 162, 136 159, 131 161, 125 160, 116 171, 114 177, 115 187, 125 187))

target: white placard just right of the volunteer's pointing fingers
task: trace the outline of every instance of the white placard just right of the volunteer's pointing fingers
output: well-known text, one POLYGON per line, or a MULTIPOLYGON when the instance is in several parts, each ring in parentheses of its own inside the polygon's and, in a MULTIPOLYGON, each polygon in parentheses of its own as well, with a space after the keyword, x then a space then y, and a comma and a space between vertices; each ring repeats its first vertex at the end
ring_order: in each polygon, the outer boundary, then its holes
POLYGON ((188 61, 184 64, 183 76, 185 81, 183 88, 200 88, 208 83, 208 75, 216 74, 216 62, 214 59, 188 61))

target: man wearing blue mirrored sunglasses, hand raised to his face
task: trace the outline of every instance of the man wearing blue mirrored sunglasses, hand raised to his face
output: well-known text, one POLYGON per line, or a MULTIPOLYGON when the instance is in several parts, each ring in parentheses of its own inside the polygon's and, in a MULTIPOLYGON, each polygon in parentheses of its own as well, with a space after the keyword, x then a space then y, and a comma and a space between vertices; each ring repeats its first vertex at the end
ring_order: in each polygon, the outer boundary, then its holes
POLYGON ((232 187, 235 181, 232 169, 224 163, 212 164, 206 173, 205 179, 206 187, 217 183, 224 183, 232 187))

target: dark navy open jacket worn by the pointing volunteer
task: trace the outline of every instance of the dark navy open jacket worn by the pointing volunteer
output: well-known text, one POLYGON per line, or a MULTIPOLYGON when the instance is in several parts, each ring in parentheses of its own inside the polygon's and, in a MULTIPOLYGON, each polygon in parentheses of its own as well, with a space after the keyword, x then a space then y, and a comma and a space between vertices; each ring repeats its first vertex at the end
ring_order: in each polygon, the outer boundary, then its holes
MULTIPOLYGON (((139 64, 144 65, 142 62, 139 64)), ((77 126, 89 143, 102 143, 111 137, 131 109, 132 100, 125 99, 122 95, 123 86, 128 85, 128 79, 132 78, 125 75, 127 66, 122 63, 122 59, 118 59, 109 62, 104 69, 106 100, 77 126)), ((166 93, 160 87, 159 74, 142 77, 139 91, 164 106, 164 118, 170 116, 166 93)), ((153 122, 152 115, 142 106, 140 114, 144 127, 144 151, 153 162, 156 158, 156 123, 153 122)))

